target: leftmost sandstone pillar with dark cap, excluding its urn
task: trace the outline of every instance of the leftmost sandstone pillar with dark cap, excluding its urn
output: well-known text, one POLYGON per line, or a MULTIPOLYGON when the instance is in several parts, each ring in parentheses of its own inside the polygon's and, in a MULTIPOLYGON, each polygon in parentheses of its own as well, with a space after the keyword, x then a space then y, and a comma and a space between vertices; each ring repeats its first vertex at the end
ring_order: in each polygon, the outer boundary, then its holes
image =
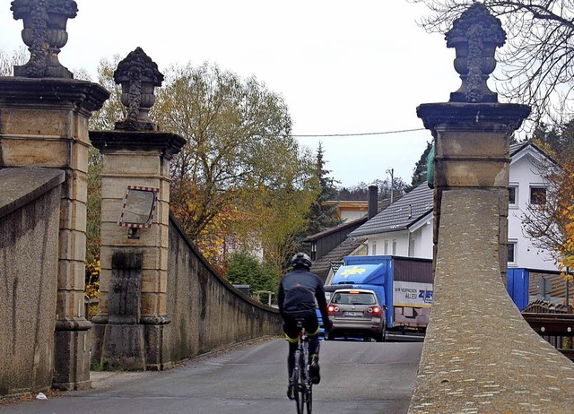
MULTIPOLYGON (((91 327, 83 315, 88 119, 108 99, 100 85, 0 78, 0 168, 65 171, 59 231, 54 386, 90 387, 91 327)), ((56 288, 55 288, 56 289, 56 288)))

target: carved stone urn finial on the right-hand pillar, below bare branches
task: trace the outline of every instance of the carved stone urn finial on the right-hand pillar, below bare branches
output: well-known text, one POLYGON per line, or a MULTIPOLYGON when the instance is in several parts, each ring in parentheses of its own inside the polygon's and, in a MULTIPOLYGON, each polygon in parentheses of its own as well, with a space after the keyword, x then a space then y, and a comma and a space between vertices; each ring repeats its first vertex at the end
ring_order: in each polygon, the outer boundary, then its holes
POLYGON ((486 84, 496 67, 494 52, 506 41, 500 20, 482 3, 472 4, 445 34, 447 47, 455 47, 455 69, 463 84, 450 94, 451 102, 497 102, 486 84))

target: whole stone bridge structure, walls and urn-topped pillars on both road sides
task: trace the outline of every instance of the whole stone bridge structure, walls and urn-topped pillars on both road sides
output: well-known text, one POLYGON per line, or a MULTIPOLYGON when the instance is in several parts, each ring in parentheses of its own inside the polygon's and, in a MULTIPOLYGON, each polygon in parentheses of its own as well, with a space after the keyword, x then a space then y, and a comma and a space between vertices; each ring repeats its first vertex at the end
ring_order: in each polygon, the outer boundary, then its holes
MULTIPOLYGON (((147 116, 162 75, 141 49, 117 68, 127 118, 88 132, 109 94, 57 61, 62 22, 76 12, 71 0, 13 1, 32 53, 0 78, 1 395, 89 388, 91 359, 167 369, 280 329, 276 311, 230 287, 170 219, 170 159, 185 141, 147 116), (83 315, 91 144, 104 157, 93 323, 83 315)), ((410 412, 571 412, 574 366, 529 328, 502 282, 509 136, 529 113, 486 85, 505 34, 475 3, 447 40, 462 86, 418 108, 436 144, 435 297, 410 412)))

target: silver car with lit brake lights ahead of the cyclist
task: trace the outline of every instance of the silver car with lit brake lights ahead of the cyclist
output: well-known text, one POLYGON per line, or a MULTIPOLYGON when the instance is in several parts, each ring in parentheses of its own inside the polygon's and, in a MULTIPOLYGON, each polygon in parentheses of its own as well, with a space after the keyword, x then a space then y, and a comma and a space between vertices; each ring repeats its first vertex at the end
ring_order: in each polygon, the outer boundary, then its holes
POLYGON ((367 289, 338 289, 327 306, 333 323, 326 340, 335 338, 364 338, 385 341, 385 308, 377 295, 367 289))

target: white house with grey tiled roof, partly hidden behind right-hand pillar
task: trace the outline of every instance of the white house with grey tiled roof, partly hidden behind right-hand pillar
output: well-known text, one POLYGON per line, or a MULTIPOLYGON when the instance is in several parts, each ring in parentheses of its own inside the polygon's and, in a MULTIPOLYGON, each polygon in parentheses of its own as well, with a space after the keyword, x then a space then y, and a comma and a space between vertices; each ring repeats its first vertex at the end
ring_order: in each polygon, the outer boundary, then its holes
MULTIPOLYGON (((539 251, 522 232, 521 216, 528 203, 545 196, 540 166, 550 161, 534 144, 510 146, 509 268, 556 271, 548 252, 539 251)), ((381 211, 350 237, 367 239, 367 254, 432 258, 433 190, 426 183, 381 211)))

